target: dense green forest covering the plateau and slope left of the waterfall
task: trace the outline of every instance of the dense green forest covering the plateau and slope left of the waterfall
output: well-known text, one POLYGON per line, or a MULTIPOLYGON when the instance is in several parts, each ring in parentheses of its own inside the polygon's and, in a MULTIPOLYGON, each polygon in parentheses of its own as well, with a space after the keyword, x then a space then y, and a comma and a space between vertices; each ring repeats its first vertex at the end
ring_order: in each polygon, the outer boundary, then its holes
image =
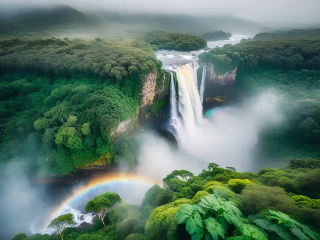
POLYGON ((23 156, 30 168, 60 174, 99 158, 110 164, 129 156, 132 165, 132 143, 114 146, 110 133, 136 119, 141 78, 157 71, 163 79, 161 66, 141 40, 2 41, 1 162, 23 156))

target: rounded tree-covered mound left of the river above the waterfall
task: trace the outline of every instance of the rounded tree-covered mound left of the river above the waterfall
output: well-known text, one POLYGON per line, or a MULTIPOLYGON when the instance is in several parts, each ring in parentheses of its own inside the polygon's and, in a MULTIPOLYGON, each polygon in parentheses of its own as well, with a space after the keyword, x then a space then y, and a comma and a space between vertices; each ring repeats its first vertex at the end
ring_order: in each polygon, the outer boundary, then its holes
POLYGON ((195 51, 207 46, 207 42, 201 37, 165 31, 149 32, 143 37, 143 40, 153 45, 155 50, 195 51))

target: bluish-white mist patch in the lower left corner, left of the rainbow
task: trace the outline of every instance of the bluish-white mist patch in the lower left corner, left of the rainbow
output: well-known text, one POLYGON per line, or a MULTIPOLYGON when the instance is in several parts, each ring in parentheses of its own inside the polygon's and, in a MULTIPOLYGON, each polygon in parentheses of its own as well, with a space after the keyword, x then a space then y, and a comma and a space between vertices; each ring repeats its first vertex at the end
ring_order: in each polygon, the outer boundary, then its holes
POLYGON ((44 188, 32 185, 25 175, 26 168, 22 159, 1 165, 0 222, 5 224, 0 224, 0 232, 3 239, 29 233, 30 226, 41 223, 52 210, 44 188))

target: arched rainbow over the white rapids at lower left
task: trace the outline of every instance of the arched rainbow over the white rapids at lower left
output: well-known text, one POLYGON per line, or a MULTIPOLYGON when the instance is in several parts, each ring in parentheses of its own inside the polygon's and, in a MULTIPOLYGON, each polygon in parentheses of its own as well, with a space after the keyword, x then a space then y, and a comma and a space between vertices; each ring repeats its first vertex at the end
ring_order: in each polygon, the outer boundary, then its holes
POLYGON ((95 177, 92 180, 90 180, 86 185, 81 186, 77 188, 71 196, 69 196, 67 199, 63 200, 61 204, 50 214, 50 218, 45 223, 45 228, 50 224, 50 222, 59 216, 59 212, 62 211, 64 207, 66 207, 69 204, 72 204, 76 199, 84 196, 85 194, 89 193, 92 190, 95 190, 97 188, 108 186, 110 184, 114 183, 147 183, 150 185, 158 184, 162 186, 162 181, 154 181, 150 180, 148 178, 133 174, 133 173, 108 173, 106 175, 102 175, 99 177, 95 177))

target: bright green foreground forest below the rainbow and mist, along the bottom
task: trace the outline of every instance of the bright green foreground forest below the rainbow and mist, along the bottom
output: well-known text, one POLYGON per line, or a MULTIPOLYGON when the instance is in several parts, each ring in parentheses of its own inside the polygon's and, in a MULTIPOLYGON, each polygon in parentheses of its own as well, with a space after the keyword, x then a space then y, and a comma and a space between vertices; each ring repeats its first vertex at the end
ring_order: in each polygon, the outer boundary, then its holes
POLYGON ((320 239, 320 161, 292 159, 283 169, 236 172, 211 163, 198 176, 175 170, 154 185, 140 206, 115 193, 90 200, 91 228, 53 220, 55 236, 20 233, 13 240, 320 239), (107 209, 108 212, 106 211, 107 209))

